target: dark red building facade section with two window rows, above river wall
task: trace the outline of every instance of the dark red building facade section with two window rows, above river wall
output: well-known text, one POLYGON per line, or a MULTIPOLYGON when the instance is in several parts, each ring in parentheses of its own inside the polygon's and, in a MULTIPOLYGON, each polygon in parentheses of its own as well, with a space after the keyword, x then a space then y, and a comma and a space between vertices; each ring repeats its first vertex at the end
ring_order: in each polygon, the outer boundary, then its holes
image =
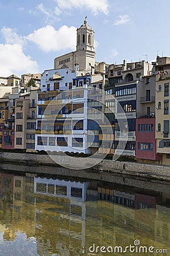
POLYGON ((136 119, 136 158, 160 160, 156 154, 155 118, 136 119))

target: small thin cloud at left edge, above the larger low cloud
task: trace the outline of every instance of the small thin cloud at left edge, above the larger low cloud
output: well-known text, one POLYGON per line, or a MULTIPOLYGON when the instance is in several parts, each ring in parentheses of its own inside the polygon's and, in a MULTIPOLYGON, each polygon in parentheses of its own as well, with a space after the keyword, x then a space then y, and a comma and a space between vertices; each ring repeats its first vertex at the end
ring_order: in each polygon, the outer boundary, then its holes
POLYGON ((18 36, 14 30, 8 27, 3 27, 1 29, 5 43, 7 44, 20 44, 23 45, 25 40, 22 36, 18 36))

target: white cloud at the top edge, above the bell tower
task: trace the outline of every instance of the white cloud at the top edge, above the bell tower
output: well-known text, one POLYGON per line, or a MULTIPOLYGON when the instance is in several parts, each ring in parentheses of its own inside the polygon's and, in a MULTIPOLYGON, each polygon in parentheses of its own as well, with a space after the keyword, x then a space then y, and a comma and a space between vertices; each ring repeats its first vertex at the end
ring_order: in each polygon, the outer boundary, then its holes
POLYGON ((71 10, 75 9, 88 9, 94 15, 98 13, 108 14, 108 0, 56 0, 59 9, 71 10))

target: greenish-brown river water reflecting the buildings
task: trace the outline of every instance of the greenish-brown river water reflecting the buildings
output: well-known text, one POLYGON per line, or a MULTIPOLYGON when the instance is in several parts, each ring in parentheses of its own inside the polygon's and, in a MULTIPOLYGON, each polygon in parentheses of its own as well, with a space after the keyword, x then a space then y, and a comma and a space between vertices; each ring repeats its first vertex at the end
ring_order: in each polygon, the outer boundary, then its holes
POLYGON ((114 180, 1 170, 0 256, 170 255, 170 183, 114 180))

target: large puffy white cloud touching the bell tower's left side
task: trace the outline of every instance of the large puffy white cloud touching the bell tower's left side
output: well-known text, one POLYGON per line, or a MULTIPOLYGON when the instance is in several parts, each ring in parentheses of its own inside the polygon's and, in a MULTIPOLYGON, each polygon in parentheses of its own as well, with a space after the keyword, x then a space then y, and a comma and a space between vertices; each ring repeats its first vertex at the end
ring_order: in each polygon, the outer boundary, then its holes
POLYGON ((75 50, 76 27, 62 26, 59 30, 51 25, 41 27, 25 37, 37 44, 42 51, 75 50))

